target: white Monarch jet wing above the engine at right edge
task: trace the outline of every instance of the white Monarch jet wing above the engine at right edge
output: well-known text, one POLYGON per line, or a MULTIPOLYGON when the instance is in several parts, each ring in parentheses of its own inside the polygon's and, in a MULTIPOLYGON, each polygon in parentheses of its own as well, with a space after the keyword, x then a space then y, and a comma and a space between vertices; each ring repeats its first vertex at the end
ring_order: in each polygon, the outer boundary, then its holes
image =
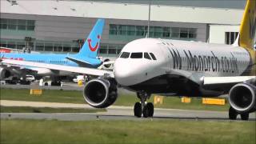
POLYGON ((203 78, 203 85, 240 83, 240 82, 246 82, 254 78, 256 78, 256 76, 205 77, 203 78))

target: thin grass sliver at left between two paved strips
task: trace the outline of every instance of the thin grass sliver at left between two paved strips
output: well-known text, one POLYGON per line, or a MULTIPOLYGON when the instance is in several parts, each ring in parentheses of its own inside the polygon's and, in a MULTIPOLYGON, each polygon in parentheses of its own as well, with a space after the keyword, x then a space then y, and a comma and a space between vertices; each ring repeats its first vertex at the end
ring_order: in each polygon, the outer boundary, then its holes
POLYGON ((0 106, 1 113, 97 113, 105 109, 70 109, 29 106, 0 106))

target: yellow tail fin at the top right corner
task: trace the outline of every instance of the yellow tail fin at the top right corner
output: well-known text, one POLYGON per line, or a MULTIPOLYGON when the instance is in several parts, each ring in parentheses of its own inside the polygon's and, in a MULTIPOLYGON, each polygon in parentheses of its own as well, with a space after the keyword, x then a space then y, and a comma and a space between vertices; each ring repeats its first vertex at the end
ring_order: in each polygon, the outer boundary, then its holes
POLYGON ((240 26, 239 46, 247 50, 254 49, 254 37, 256 28, 256 1, 247 0, 246 9, 240 26))

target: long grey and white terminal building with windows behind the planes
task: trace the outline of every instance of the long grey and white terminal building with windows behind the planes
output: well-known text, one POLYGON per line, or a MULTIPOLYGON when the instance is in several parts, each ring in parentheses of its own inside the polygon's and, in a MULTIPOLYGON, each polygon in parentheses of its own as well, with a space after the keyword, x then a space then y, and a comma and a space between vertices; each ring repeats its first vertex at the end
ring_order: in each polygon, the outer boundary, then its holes
MULTIPOLYGON (((115 58, 134 39, 145 38, 148 1, 1 0, 1 46, 44 53, 75 53, 97 18, 105 18, 99 56, 115 58)), ((232 44, 245 0, 154 1, 150 38, 232 44)))

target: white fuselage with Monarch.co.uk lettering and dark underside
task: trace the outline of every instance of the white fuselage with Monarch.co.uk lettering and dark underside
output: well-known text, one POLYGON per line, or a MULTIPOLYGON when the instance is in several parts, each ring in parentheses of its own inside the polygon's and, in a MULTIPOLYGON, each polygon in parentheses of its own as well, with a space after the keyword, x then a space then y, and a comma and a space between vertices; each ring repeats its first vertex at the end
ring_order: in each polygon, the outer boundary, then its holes
POLYGON ((158 94, 217 96, 226 87, 207 90, 203 77, 240 76, 252 63, 242 47, 156 38, 130 42, 122 54, 114 63, 117 82, 130 90, 158 94), (122 58, 124 52, 127 58, 122 58))

